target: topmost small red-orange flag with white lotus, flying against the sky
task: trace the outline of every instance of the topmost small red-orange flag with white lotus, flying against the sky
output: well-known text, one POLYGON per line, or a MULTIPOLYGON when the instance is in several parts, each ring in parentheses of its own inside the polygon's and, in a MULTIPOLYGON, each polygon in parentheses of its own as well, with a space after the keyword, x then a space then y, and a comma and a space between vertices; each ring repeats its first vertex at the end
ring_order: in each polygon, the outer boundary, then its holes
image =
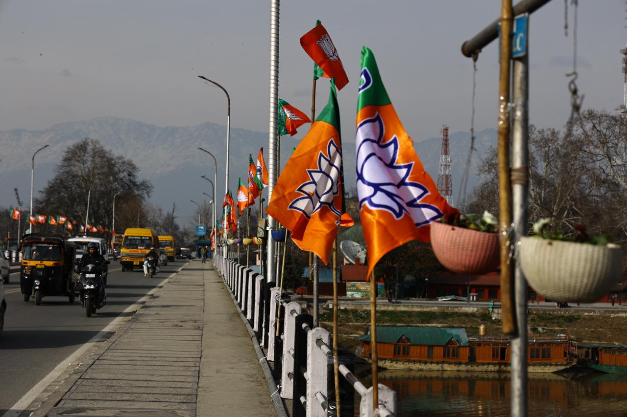
POLYGON ((303 34, 300 38, 300 46, 324 71, 325 77, 335 78, 335 85, 337 85, 338 90, 342 90, 349 83, 349 78, 346 76, 346 71, 344 71, 340 56, 337 54, 337 49, 335 49, 327 29, 322 26, 320 21, 316 21, 314 29, 303 34))

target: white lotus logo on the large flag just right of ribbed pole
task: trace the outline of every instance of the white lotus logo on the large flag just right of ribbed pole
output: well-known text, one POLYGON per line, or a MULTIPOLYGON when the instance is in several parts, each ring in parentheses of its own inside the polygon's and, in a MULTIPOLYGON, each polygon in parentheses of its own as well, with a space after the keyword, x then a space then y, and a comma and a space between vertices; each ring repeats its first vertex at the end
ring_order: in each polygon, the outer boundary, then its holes
POLYGON ((333 203, 335 195, 339 194, 338 178, 342 165, 342 152, 333 139, 327 145, 327 155, 323 152, 319 153, 318 168, 307 170, 307 175, 311 180, 302 183, 297 188, 297 192, 303 194, 303 197, 296 198, 288 206, 288 209, 302 212, 307 219, 324 205, 329 207, 329 210, 337 217, 342 215, 333 203))

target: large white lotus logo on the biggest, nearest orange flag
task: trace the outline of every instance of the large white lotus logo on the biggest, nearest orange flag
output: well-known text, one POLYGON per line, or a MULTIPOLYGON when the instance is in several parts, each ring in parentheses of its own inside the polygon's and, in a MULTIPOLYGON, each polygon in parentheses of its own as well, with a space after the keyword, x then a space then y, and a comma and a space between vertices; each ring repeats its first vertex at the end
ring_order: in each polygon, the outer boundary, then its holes
POLYGON ((416 226, 442 217, 435 205, 420 203, 429 190, 419 182, 409 181, 413 162, 397 163, 398 138, 382 143, 384 124, 379 113, 357 126, 357 193, 359 210, 367 205, 371 210, 386 210, 396 220, 404 214, 416 226))

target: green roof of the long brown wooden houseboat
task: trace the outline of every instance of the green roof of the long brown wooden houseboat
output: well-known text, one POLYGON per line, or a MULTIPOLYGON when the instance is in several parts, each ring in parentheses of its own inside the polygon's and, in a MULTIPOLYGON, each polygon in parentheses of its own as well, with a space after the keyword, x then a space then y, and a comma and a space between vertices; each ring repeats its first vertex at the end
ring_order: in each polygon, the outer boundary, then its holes
MULTIPOLYGON (((441 329, 440 327, 419 326, 377 326, 377 342, 394 343, 402 336, 409 340, 410 344, 422 344, 431 346, 445 346, 451 337, 460 346, 468 346, 468 336, 465 329, 441 329)), ((362 341, 370 341, 370 326, 367 334, 359 336, 362 341)))

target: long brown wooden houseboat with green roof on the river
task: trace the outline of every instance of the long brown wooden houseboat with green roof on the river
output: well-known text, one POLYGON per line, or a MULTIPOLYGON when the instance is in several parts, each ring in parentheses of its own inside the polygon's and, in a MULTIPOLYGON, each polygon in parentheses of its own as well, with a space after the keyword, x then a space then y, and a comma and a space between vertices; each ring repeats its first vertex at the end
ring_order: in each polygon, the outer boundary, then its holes
MULTIPOLYGON (((511 341, 505 337, 468 337, 465 329, 377 326, 381 368, 441 371, 508 372, 511 341)), ((371 358, 370 327, 360 336, 358 356, 371 358)), ((529 337, 529 372, 556 372, 574 365, 574 347, 564 335, 529 337)), ((627 356, 626 356, 627 358, 627 356)))

